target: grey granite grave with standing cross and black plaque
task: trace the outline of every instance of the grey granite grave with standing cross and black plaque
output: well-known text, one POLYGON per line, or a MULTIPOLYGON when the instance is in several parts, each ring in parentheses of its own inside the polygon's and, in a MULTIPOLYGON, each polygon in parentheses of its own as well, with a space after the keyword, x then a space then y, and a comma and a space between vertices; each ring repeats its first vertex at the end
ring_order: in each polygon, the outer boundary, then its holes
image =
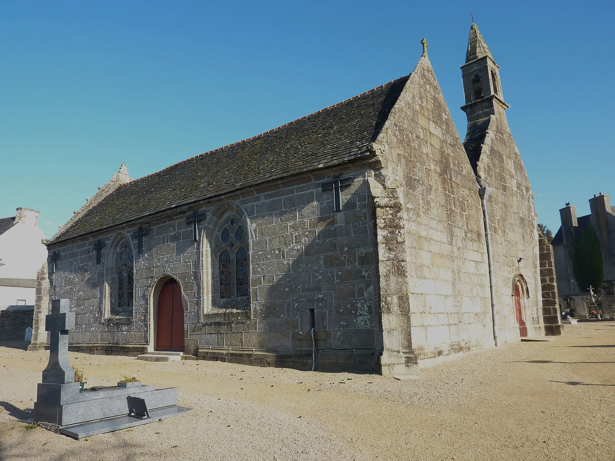
POLYGON ((75 321, 69 300, 52 301, 51 313, 45 320, 45 329, 50 332, 49 363, 38 385, 34 422, 82 438, 167 419, 189 410, 177 405, 177 387, 156 389, 131 383, 80 392, 79 383, 74 382, 74 370, 68 363, 68 331, 74 328, 75 321), (148 411, 148 418, 129 416, 131 397, 139 398, 140 407, 148 411))

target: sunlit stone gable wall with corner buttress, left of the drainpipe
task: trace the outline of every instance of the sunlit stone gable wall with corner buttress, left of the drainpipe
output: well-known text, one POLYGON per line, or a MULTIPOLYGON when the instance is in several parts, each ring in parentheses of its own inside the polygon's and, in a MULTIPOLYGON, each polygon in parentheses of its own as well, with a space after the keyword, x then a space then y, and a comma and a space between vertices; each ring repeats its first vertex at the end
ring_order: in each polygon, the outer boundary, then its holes
POLYGON ((493 345, 478 187, 426 57, 376 143, 383 373, 493 345))

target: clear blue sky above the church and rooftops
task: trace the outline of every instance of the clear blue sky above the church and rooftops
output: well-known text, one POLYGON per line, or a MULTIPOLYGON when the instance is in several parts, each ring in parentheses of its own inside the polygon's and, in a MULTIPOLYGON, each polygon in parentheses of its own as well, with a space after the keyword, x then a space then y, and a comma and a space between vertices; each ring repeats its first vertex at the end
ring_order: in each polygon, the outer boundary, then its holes
POLYGON ((3 0, 0 217, 41 210, 51 237, 122 162, 148 175, 407 75, 422 37, 463 138, 470 11, 539 222, 615 202, 613 1, 3 0))

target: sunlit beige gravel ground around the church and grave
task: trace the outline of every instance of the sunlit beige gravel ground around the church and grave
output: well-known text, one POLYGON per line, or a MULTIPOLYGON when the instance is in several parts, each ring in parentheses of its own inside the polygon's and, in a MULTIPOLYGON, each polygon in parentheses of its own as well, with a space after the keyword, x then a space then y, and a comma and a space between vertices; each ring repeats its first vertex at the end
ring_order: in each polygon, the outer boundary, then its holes
POLYGON ((76 441, 27 430, 46 351, 0 347, 0 460, 614 460, 615 323, 482 350, 418 379, 69 353, 88 387, 176 386, 192 411, 76 441))

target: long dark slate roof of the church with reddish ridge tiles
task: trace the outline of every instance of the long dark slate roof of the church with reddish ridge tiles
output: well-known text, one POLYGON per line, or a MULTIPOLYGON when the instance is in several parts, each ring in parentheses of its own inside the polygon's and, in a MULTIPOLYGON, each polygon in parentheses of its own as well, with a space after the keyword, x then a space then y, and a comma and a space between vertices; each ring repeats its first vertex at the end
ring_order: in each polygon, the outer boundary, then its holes
POLYGON ((50 243, 368 155, 408 77, 122 184, 50 243))

